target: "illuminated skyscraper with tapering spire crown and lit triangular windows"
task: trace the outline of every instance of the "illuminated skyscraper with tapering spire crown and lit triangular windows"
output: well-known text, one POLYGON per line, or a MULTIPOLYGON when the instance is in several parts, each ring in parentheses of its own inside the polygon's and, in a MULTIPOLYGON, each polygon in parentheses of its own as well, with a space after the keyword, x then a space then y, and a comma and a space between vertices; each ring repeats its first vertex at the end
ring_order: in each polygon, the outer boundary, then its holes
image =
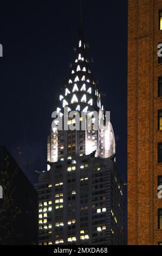
POLYGON ((55 114, 48 169, 35 185, 39 244, 124 244, 124 185, 115 165, 113 127, 89 68, 82 21, 76 58, 55 114))

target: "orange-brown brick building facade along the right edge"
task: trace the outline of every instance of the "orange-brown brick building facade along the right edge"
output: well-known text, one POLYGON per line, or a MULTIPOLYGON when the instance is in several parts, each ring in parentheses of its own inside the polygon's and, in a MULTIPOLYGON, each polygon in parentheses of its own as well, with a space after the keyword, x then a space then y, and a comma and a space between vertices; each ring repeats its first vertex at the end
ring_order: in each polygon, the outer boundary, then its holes
POLYGON ((162 241, 160 0, 128 1, 128 243, 162 241))

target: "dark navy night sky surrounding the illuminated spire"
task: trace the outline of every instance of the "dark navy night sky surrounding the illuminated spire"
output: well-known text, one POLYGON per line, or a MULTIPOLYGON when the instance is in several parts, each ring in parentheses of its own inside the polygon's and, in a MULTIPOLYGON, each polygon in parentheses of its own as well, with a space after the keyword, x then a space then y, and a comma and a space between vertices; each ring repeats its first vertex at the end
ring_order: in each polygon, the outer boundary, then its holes
MULTIPOLYGON (((90 68, 111 111, 116 163, 127 172, 127 1, 83 0, 90 68)), ((45 170, 51 113, 74 60, 79 0, 1 1, 0 144, 31 182, 45 170)))

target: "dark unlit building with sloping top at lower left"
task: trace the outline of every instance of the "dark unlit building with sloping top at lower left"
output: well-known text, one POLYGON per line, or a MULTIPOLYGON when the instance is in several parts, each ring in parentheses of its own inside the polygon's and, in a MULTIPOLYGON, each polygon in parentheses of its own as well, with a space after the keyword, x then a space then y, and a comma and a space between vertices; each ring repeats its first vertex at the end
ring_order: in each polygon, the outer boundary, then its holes
POLYGON ((37 193, 4 146, 0 146, 0 185, 0 245, 36 245, 37 193))

